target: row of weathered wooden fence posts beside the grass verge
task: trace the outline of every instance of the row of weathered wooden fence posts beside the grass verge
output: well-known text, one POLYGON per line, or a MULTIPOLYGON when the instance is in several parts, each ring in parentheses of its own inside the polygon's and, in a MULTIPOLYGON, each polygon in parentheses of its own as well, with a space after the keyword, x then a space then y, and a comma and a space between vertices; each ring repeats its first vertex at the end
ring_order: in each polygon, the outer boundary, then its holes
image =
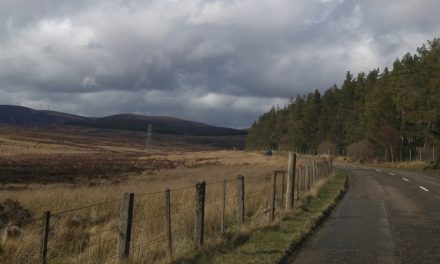
MULTIPOLYGON (((421 158, 421 148, 419 150, 419 158, 421 158)), ((435 158, 435 147, 432 147, 432 158, 435 158)), ((411 149, 409 150, 409 156, 411 160, 411 149)), ((300 196, 311 190, 312 185, 320 179, 329 177, 333 173, 333 160, 321 159, 317 161, 315 158, 309 160, 306 165, 301 165, 296 168, 297 154, 290 152, 288 159, 287 170, 287 183, 285 184, 286 171, 274 171, 270 182, 270 196, 269 196, 269 221, 272 222, 275 219, 276 211, 276 192, 277 192, 277 174, 281 173, 281 204, 284 201, 284 194, 286 206, 285 210, 289 211, 294 208, 295 201, 300 196)), ((237 225, 242 226, 244 224, 245 217, 245 193, 244 193, 244 176, 237 176, 237 204, 236 204, 236 220, 237 225)), ((226 215, 226 186, 227 181, 223 181, 222 200, 221 200, 221 233, 225 232, 225 215, 226 215)), ((204 222, 205 222, 205 189, 206 182, 198 182, 196 184, 196 215, 195 215, 195 228, 194 228, 194 242, 196 247, 200 247, 204 240, 204 222)), ((129 256, 130 240, 132 232, 133 221, 133 206, 134 206, 134 193, 124 193, 123 200, 120 208, 119 216, 119 234, 118 234, 118 256, 119 259, 125 260, 129 256)), ((171 191, 165 190, 165 209, 166 209, 166 233, 168 242, 168 255, 172 260, 173 255, 173 243, 172 243, 172 225, 171 225, 171 191)), ((283 206, 281 206, 283 208, 283 206)), ((41 263, 47 263, 48 253, 48 239, 50 230, 50 211, 44 213, 44 226, 41 237, 41 249, 40 258, 41 263)))

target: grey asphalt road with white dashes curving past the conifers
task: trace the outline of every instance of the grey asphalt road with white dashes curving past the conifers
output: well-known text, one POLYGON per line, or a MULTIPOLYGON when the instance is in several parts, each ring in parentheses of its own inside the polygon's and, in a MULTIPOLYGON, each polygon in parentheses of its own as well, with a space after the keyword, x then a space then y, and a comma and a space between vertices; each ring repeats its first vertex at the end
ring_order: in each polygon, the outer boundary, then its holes
POLYGON ((292 263, 440 263, 440 177, 336 166, 348 192, 292 263))

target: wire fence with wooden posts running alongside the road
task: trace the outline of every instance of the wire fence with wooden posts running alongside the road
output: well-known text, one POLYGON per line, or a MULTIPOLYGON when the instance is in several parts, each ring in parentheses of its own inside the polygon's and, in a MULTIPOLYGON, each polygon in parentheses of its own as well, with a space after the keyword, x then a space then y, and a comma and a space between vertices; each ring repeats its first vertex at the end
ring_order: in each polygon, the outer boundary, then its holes
POLYGON ((21 244, 11 253, 11 263, 154 263, 188 256, 206 243, 226 241, 244 226, 277 221, 332 174, 326 158, 300 163, 289 155, 287 170, 272 175, 125 193, 117 200, 46 212, 21 226, 21 244))

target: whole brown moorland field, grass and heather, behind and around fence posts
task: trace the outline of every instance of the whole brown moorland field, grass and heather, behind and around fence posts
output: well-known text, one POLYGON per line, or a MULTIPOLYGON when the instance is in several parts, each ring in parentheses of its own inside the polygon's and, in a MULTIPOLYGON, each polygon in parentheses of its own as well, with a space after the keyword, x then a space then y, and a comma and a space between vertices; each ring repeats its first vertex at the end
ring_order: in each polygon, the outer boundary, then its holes
MULTIPOLYGON (((0 129, 0 202, 18 201, 39 218, 50 210, 49 263, 116 263, 119 208, 124 192, 135 194, 131 262, 167 262, 165 198, 171 189, 173 257, 193 254, 195 183, 206 181, 206 245, 224 241, 220 197, 227 180, 227 232, 234 232, 235 179, 245 176, 246 228, 267 224, 269 181, 285 170, 285 155, 265 157, 232 149, 239 138, 156 135, 151 153, 137 132, 78 128, 0 129), (203 145, 210 140, 211 145, 203 145), (228 142, 228 144, 225 144, 228 142), (93 205, 88 207, 88 205, 93 205), (86 206, 86 207, 85 207, 86 206), (82 208, 85 207, 85 208, 82 208)), ((281 187, 281 181, 277 183, 281 187)), ((282 207, 281 194, 277 207, 282 207)), ((1 217, 1 213, 0 213, 1 217)), ((1 219, 0 219, 1 221, 1 219)), ((3 219, 1 263, 35 263, 42 220, 3 219)))

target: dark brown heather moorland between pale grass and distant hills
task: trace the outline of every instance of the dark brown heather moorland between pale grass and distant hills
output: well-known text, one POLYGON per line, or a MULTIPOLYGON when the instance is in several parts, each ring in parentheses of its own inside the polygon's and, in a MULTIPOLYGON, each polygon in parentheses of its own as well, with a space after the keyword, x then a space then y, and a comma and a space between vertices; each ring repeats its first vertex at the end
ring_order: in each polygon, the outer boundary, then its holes
MULTIPOLYGON (((18 129, 0 127, 2 183, 119 182, 128 176, 173 169, 184 162, 170 153, 237 149, 242 136, 184 137, 153 135, 153 153, 144 151, 145 133, 63 127, 18 129)), ((185 154, 186 156, 186 154, 185 154)), ((201 157, 188 166, 208 161, 201 157)))

